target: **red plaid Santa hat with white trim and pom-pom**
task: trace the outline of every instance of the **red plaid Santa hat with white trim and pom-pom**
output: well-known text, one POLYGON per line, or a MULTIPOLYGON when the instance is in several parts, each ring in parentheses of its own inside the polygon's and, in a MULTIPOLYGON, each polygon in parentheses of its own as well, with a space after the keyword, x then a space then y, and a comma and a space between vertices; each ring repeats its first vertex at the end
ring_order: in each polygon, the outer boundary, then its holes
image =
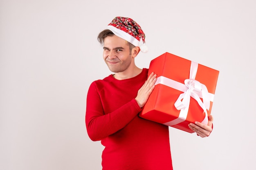
POLYGON ((112 31, 117 37, 125 39, 134 46, 139 46, 141 52, 148 52, 148 47, 145 44, 145 34, 139 24, 128 17, 115 17, 107 29, 112 31), (143 44, 139 45, 140 39, 143 44))

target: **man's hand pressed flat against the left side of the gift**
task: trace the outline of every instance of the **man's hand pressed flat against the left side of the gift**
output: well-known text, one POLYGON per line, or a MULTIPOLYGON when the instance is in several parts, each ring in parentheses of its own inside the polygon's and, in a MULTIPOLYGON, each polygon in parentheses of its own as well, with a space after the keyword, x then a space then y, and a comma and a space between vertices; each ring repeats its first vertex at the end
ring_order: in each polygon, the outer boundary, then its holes
POLYGON ((144 83, 144 85, 139 89, 137 97, 135 100, 137 101, 139 107, 143 107, 148 100, 149 95, 152 93, 155 88, 155 82, 157 81, 156 74, 153 72, 149 75, 148 80, 144 83))

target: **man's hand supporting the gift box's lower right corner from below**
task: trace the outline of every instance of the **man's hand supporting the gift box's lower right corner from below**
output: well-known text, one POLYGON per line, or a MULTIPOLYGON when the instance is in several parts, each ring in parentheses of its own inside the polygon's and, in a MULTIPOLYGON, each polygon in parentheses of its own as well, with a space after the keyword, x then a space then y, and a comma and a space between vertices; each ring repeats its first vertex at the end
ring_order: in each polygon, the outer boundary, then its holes
POLYGON ((189 128, 195 131, 195 133, 197 133, 198 136, 207 137, 210 135, 212 131, 212 123, 213 123, 213 116, 210 115, 207 125, 202 124, 200 122, 195 122, 195 124, 190 123, 189 128))

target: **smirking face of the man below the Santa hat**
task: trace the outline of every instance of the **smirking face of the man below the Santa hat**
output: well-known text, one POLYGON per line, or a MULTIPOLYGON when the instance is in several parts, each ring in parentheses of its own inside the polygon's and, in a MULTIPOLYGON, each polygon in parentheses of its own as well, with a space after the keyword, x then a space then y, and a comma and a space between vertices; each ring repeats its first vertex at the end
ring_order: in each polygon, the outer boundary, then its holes
POLYGON ((111 72, 128 71, 132 62, 128 42, 116 35, 106 37, 104 39, 103 59, 111 72))

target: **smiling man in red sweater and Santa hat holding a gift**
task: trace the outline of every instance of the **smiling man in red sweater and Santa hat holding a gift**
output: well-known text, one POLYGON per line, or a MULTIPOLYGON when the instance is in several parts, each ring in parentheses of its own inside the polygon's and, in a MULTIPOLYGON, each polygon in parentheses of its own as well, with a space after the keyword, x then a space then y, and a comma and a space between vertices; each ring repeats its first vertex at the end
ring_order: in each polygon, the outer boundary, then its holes
MULTIPOLYGON (((135 65, 139 52, 146 52, 144 32, 134 20, 115 17, 98 40, 115 74, 90 85, 85 123, 90 139, 105 146, 103 170, 172 170, 168 126, 138 116, 157 76, 135 65)), ((206 137, 212 121, 210 116, 208 125, 196 122, 189 127, 206 137)))

